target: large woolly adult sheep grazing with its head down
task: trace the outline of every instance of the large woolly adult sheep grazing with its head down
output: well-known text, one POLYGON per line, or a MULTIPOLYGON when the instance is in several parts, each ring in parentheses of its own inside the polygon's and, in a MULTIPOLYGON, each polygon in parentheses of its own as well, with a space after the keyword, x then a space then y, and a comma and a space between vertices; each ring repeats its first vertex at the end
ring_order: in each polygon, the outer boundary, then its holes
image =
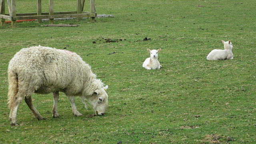
POLYGON ((16 115, 20 102, 26 104, 38 120, 44 118, 32 104, 31 94, 48 94, 52 92, 54 104, 52 117, 58 118, 57 103, 59 91, 64 92, 70 100, 75 116, 82 116, 74 103, 74 96, 87 99, 95 114, 104 115, 108 106, 108 94, 101 80, 96 79, 90 66, 76 53, 55 48, 34 46, 17 52, 8 67, 8 104, 9 119, 17 125, 16 115))

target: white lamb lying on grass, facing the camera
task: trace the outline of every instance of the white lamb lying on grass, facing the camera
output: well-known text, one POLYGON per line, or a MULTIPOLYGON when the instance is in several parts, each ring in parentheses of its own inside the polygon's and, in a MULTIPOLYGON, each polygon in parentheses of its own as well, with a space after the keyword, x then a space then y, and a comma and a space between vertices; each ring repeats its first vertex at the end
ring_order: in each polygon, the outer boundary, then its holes
POLYGON ((160 52, 161 48, 158 50, 150 50, 147 49, 148 52, 150 52, 150 58, 146 58, 146 60, 143 62, 143 68, 146 68, 148 70, 158 70, 162 68, 160 63, 158 62, 158 52, 160 52))

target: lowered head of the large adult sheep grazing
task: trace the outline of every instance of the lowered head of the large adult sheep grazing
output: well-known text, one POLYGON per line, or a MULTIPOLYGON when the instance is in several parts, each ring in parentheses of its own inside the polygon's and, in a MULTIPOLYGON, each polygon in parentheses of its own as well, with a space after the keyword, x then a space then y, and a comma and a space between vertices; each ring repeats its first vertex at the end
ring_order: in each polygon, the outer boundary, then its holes
POLYGON ((95 90, 87 100, 97 115, 104 115, 108 107, 108 94, 106 89, 108 86, 95 90))

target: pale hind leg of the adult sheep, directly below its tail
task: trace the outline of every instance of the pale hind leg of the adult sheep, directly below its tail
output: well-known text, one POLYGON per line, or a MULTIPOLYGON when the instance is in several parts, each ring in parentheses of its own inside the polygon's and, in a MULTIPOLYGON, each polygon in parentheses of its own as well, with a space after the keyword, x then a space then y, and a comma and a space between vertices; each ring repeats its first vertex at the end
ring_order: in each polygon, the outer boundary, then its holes
POLYGON ((23 96, 20 96, 20 93, 18 92, 18 94, 12 99, 12 103, 10 106, 10 115, 9 115, 9 120, 11 121, 11 125, 18 125, 16 122, 16 116, 17 116, 17 110, 18 107, 20 105, 20 102, 22 101, 23 96))

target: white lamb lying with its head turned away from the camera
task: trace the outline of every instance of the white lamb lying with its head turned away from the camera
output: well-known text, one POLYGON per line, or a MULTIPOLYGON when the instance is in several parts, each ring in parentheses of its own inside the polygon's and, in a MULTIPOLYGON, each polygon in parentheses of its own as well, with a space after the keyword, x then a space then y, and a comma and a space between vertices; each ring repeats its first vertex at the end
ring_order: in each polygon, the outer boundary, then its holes
POLYGON ((233 53, 232 53, 232 43, 230 40, 227 42, 224 42, 221 40, 222 43, 224 44, 224 50, 212 50, 208 56, 207 60, 232 60, 233 59, 233 53))

